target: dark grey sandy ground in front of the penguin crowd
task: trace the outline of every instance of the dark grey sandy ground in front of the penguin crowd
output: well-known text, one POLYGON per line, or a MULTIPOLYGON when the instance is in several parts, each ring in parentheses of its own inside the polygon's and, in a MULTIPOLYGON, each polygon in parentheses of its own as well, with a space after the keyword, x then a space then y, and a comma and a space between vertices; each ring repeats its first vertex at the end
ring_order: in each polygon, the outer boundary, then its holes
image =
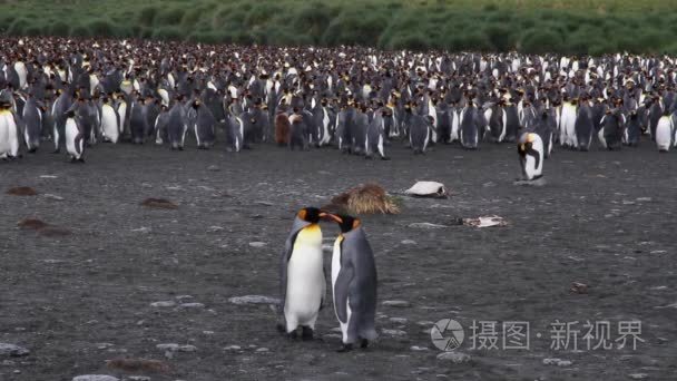
MULTIPOLYGON (((98 145, 79 165, 43 147, 17 163, 0 163, 0 342, 31 351, 0 359, 0 380, 121 378, 131 373, 108 370, 105 360, 122 356, 169 363, 169 374, 136 373, 154 381, 677 378, 677 309, 660 307, 677 302, 675 153, 659 154, 646 141, 615 153, 558 150, 544 164, 548 184, 523 187, 512 184, 514 145, 484 144, 479 152, 438 146, 418 157, 398 145, 390 149, 391 162, 334 149, 258 148, 226 154, 223 146, 170 152, 98 145), (208 170, 213 165, 220 170, 208 170), (290 342, 275 331, 267 305, 228 302, 276 296, 278 253, 301 206, 323 205, 363 182, 401 192, 416 179, 442 182, 453 196, 406 198, 401 215, 364 218, 379 267, 380 303, 411 303, 379 305, 377 326, 405 335, 381 334, 367 351, 337 354, 338 339, 290 342), (35 187, 39 195, 4 194, 14 186, 35 187), (145 208, 139 204, 147 197, 179 207, 145 208), (511 225, 408 227, 492 214, 511 225), (19 229, 17 222, 27 217, 72 235, 19 229), (575 281, 588 284, 588 294, 571 293, 575 281), (205 307, 150 306, 178 295, 192 295, 185 302, 205 307), (465 326, 460 351, 471 355, 470 363, 438 360, 440 351, 423 332, 430 325, 418 324, 444 318, 465 326), (578 325, 583 351, 552 351, 549 324, 556 319, 608 320, 611 340, 618 338, 619 321, 639 319, 645 342, 637 351, 587 351, 578 325), (470 350, 472 320, 529 321, 531 350, 470 350), (100 343, 115 345, 98 349, 100 343), (156 349, 160 343, 192 344, 197 351, 166 359, 156 349), (242 350, 224 350, 228 345, 242 350), (429 350, 413 351, 413 345, 429 350), (547 358, 572 364, 544 364, 547 358)), ((325 226, 327 244, 336 232, 325 226)), ((327 252, 327 268, 330 258, 327 252)), ((317 334, 335 333, 335 326, 330 297, 317 334)))

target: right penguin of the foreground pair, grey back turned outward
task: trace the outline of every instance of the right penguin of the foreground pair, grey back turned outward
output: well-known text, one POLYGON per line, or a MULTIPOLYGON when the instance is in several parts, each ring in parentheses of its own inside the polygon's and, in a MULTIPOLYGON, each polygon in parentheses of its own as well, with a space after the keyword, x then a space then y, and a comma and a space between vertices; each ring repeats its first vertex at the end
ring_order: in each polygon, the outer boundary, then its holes
POLYGON ((334 312, 341 324, 343 345, 338 352, 362 348, 376 339, 376 263, 360 219, 330 215, 341 227, 332 254, 334 312))

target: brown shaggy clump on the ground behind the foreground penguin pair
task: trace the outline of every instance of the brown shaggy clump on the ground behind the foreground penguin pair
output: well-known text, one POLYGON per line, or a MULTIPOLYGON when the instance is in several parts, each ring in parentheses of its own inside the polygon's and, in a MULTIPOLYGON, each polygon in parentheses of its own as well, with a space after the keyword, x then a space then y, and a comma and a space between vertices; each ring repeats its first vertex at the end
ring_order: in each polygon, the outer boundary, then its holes
POLYGON ((400 207, 377 184, 360 185, 332 198, 327 211, 349 214, 398 214, 400 207))

